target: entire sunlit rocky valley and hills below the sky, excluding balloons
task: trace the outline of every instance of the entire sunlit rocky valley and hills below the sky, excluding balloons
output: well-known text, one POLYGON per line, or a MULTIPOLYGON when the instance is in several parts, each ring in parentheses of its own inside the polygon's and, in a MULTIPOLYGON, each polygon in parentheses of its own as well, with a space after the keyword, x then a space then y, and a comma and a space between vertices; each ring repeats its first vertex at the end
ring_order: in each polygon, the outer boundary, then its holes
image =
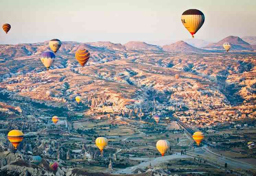
POLYGON ((247 148, 256 140, 254 45, 234 36, 203 49, 183 41, 163 47, 62 42, 49 71, 39 59, 45 50, 48 41, 0 45, 0 175, 256 172, 255 150, 247 148), (225 52, 221 45, 229 40, 233 48, 225 52), (84 67, 74 58, 78 48, 91 54, 84 67), (52 116, 60 117, 57 125, 52 116), (205 145, 196 148, 177 120, 202 131, 205 145), (12 129, 25 134, 15 155, 6 139, 12 129), (108 139, 103 157, 95 145, 99 136, 108 139), (155 148, 160 139, 171 146, 164 157, 155 148), (37 154, 42 163, 30 164, 37 154), (60 165, 56 172, 51 161, 60 165))

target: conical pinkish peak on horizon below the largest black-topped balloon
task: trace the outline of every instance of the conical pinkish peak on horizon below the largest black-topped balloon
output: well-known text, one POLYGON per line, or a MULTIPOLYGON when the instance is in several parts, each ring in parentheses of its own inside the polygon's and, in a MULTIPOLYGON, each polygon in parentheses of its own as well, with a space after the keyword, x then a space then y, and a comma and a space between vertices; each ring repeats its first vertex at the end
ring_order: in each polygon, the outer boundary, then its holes
POLYGON ((163 50, 167 52, 207 52, 204 49, 191 46, 184 41, 178 41, 171 45, 164 45, 163 50))

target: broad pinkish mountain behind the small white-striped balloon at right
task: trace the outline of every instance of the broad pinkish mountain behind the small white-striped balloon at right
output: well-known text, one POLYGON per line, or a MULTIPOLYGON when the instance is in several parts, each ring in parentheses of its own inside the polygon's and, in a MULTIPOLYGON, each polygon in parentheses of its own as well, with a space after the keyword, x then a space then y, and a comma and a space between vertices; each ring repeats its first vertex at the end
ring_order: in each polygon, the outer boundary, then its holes
POLYGON ((235 50, 252 50, 253 49, 252 45, 245 42, 242 38, 236 37, 236 36, 228 36, 228 37, 220 40, 219 42, 209 44, 209 45, 205 46, 204 48, 223 49, 223 43, 225 43, 225 42, 231 43, 231 45, 232 45, 231 50, 232 49, 235 49, 235 50))

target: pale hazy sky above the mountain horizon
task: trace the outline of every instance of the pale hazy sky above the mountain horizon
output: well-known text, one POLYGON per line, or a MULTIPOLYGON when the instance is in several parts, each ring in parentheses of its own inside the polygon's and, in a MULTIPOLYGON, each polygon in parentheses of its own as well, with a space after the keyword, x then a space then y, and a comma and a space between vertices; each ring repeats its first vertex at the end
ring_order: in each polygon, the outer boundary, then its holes
POLYGON ((11 24, 0 44, 62 41, 173 43, 191 38, 181 22, 198 9, 205 23, 195 38, 218 42, 229 36, 256 36, 255 0, 6 0, 2 24, 11 24))

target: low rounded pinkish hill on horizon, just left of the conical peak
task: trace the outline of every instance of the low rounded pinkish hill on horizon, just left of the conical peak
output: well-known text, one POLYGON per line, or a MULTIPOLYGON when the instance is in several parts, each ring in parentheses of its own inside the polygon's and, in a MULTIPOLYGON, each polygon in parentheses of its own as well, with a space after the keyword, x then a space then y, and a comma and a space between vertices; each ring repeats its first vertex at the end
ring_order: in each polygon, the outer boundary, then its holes
POLYGON ((128 42, 124 44, 127 50, 159 50, 162 51, 162 48, 157 45, 147 44, 145 42, 128 42))

